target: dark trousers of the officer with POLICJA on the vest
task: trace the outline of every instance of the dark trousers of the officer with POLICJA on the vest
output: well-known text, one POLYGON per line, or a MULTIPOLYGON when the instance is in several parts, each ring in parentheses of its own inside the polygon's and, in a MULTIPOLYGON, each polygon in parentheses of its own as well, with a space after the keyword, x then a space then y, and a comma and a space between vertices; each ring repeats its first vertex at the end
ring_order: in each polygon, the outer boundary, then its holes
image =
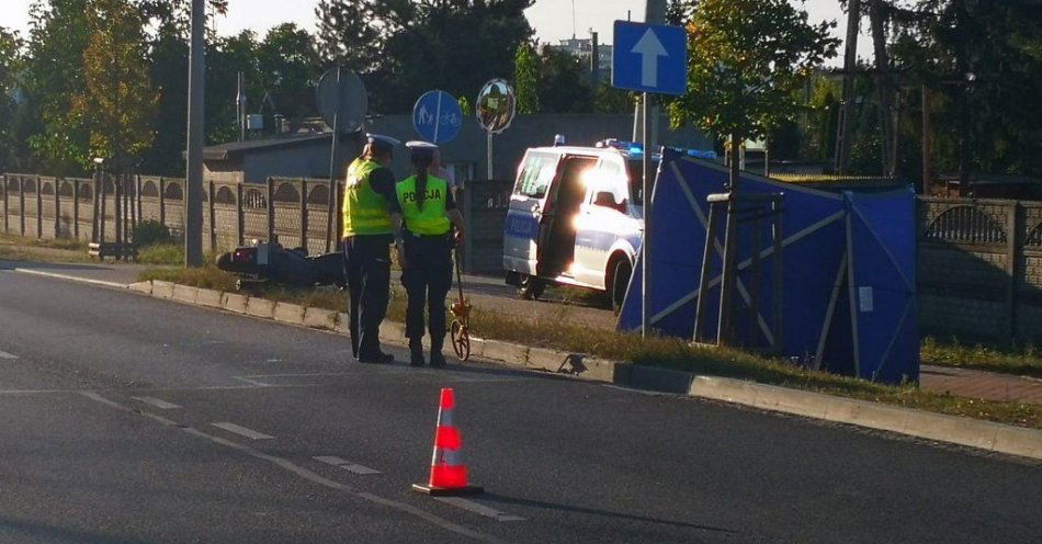
POLYGON ((408 267, 401 272, 401 284, 409 295, 405 317, 405 336, 423 338, 423 306, 430 316, 431 343, 441 347, 445 339, 445 296, 452 288, 452 252, 449 235, 405 236, 408 267))

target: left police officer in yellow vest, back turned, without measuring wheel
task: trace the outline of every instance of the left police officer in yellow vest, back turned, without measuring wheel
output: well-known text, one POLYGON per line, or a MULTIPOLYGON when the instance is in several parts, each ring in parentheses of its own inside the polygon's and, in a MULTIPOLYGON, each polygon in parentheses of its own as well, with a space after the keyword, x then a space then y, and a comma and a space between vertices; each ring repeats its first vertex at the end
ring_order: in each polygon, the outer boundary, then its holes
POLYGON ((400 141, 366 135, 362 156, 348 167, 343 190, 343 257, 350 291, 351 351, 362 363, 390 363, 380 349, 380 324, 390 291, 395 177, 388 168, 400 141))

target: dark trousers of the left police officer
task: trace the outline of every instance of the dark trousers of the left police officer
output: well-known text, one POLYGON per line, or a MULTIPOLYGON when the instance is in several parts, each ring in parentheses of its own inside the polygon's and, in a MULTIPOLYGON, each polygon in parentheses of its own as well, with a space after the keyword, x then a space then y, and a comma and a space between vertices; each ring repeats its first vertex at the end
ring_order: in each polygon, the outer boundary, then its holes
POLYGON ((344 239, 343 258, 350 291, 351 351, 361 359, 380 354, 380 324, 387 315, 390 291, 390 235, 344 239))

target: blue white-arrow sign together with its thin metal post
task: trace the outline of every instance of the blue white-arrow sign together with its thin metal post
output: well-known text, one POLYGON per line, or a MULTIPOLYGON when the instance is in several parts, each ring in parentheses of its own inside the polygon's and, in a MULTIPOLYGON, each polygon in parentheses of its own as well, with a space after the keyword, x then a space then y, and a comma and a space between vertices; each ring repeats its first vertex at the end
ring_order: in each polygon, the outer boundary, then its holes
MULTIPOLYGON (((650 115, 648 94, 683 94, 688 87, 688 37, 683 27, 615 21, 611 83, 620 89, 643 92, 644 140, 648 141, 650 115)), ((641 241, 641 333, 650 331, 652 290, 648 253, 652 231, 652 155, 644 149, 644 239, 641 241)))

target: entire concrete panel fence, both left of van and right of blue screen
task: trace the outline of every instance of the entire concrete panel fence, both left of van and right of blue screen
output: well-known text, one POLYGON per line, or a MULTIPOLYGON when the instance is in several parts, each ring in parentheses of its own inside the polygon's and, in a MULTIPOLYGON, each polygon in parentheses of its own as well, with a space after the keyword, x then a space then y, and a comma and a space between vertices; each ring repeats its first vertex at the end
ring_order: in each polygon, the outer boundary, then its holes
MULTIPOLYGON (((99 240, 100 184, 9 173, 2 178, 3 233, 34 238, 99 240)), ((469 225, 464 267, 502 268, 502 227, 512 183, 473 181, 461 194, 469 225)), ((104 233, 115 231, 116 199, 106 181, 104 233)), ((203 246, 225 251, 252 239, 326 249, 329 181, 269 178, 261 184, 204 184, 203 246)), ((333 192, 333 233, 340 194, 333 192)), ((159 220, 183 230, 184 180, 134 177, 122 191, 121 219, 159 220)), ((928 333, 993 341, 1042 341, 1042 203, 921 197, 918 201, 919 319, 928 333)))

